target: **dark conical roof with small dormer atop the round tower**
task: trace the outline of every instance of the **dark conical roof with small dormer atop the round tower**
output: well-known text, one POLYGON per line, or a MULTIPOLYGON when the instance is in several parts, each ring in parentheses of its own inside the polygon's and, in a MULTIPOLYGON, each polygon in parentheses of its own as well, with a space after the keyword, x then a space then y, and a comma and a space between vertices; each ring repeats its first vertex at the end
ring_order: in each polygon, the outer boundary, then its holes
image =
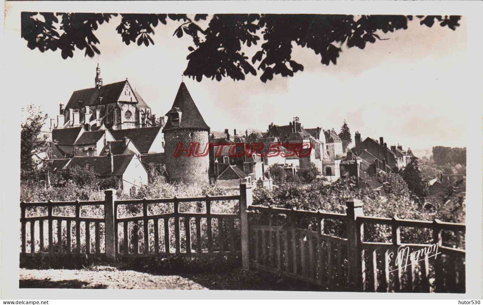
POLYGON ((186 87, 184 82, 181 83, 171 110, 166 114, 166 116, 168 116, 168 121, 166 122, 163 132, 169 129, 180 128, 210 129, 210 127, 206 125, 205 120, 199 113, 198 107, 196 107, 196 104, 191 98, 188 88, 186 87), (181 120, 179 126, 174 126, 173 124, 171 124, 171 119, 168 114, 173 111, 181 111, 181 120))

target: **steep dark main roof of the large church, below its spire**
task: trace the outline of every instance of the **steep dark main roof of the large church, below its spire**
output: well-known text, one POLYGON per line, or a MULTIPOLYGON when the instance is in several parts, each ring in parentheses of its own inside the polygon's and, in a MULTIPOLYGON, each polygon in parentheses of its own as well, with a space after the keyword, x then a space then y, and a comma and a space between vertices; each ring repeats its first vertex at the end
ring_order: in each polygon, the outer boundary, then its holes
MULTIPOLYGON (((65 109, 79 108, 80 107, 79 101, 82 101, 82 106, 94 106, 94 105, 117 102, 119 99, 119 96, 121 96, 121 93, 124 90, 124 87, 126 86, 126 83, 129 84, 128 80, 107 84, 99 87, 99 89, 94 87, 94 88, 76 90, 72 92, 71 98, 69 99, 69 102, 65 106, 65 109)), ((131 87, 130 84, 129 84, 129 87, 131 87)), ((142 97, 139 95, 139 93, 136 90, 134 90, 132 87, 131 89, 134 93, 134 97, 138 102, 137 105, 141 107, 148 107, 146 105, 146 102, 144 102, 142 97)))

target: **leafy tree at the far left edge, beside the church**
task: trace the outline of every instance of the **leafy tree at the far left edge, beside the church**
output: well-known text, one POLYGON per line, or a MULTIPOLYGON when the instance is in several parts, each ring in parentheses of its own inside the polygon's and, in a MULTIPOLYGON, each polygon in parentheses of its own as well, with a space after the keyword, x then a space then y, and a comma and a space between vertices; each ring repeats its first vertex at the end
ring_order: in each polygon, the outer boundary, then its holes
POLYGON ((47 135, 41 133, 47 115, 33 105, 28 105, 27 109, 22 110, 26 111, 27 115, 20 125, 20 176, 22 179, 30 179, 40 162, 33 156, 46 150, 47 135))

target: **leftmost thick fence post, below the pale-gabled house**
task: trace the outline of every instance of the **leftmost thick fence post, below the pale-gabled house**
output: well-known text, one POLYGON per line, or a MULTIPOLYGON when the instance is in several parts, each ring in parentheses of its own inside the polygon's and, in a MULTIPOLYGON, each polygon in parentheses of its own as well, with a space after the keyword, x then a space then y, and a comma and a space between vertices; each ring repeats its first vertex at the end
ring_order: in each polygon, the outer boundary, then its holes
POLYGON ((108 261, 116 260, 116 247, 115 247, 115 215, 114 215, 114 202, 116 201, 116 190, 106 189, 104 200, 104 221, 105 221, 105 237, 106 237, 106 259, 108 261))

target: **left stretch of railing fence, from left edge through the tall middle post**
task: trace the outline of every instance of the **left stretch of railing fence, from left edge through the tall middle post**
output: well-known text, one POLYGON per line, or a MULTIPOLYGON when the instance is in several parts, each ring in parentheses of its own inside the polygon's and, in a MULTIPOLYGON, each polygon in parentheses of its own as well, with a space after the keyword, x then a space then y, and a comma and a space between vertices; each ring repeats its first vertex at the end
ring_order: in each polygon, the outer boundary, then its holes
MULTIPOLYGON (((251 204, 252 200, 251 189, 247 189, 244 184, 241 185, 240 195, 231 196, 207 195, 205 197, 117 200, 114 189, 106 190, 105 194, 104 201, 20 203, 21 255, 85 254, 88 256, 99 255, 109 260, 115 260, 118 257, 166 256, 170 253, 180 255, 240 254, 242 248, 248 248, 248 243, 246 242, 248 235, 246 232, 245 234, 240 234, 239 231, 240 227, 248 227, 246 206, 251 204), (211 212, 213 202, 230 200, 239 202, 240 213, 216 214, 211 212), (148 213, 150 205, 160 203, 167 204, 172 208, 172 212, 162 214, 148 213), (180 203, 196 204, 199 209, 202 209, 199 205, 203 204, 206 212, 180 212, 180 203), (117 211, 119 206, 136 204, 142 205, 142 216, 118 217, 117 211), (81 208, 87 205, 103 206, 103 217, 81 217, 81 208), (54 215, 54 208, 64 206, 75 206, 75 217, 54 215), (47 215, 26 217, 26 210, 33 207, 46 208, 47 215), (172 220, 170 221, 170 219, 172 220), (183 220, 181 226, 180 220, 183 220), (213 220, 217 225, 216 228, 213 228, 213 220), (45 221, 48 222, 48 247, 43 245, 45 221), (206 224, 205 226, 201 225, 202 221, 206 224), (38 222, 38 226, 35 225, 36 222, 38 222), (54 222, 56 224, 55 227, 54 222), (63 222, 66 223, 64 230, 63 222), (164 230, 160 232, 159 226, 161 222, 164 230), (81 225, 81 223, 85 224, 81 225), (91 223, 94 223, 94 243, 92 243, 91 239, 91 223), (237 232, 235 232, 236 223, 237 232), (75 228, 74 234, 72 234, 72 224, 75 228), (26 234, 28 226, 30 229, 29 237, 26 234), (36 234, 36 228, 38 228, 39 234, 36 234), (83 229, 82 232, 81 229, 83 229), (56 231, 57 238, 54 238, 56 231), (164 235, 162 239, 160 238, 160 233, 164 235), (139 238, 140 235, 142 235, 141 239, 139 238), (75 247, 72 247, 72 236, 75 236, 75 247), (82 241, 81 236, 83 237, 82 241), (204 237, 205 241, 203 241, 202 237, 204 237), (216 240, 217 243, 214 244, 213 240, 216 240), (27 242, 30 243, 29 249, 26 248, 27 242), (83 245, 82 242, 85 242, 85 246, 81 247, 83 245), (91 247, 92 244, 94 244, 94 248, 91 247), (161 244, 164 244, 162 245, 164 247, 160 247, 161 244), (206 247, 204 247, 205 245, 206 247)), ((245 261, 245 264, 247 262, 245 261)))

